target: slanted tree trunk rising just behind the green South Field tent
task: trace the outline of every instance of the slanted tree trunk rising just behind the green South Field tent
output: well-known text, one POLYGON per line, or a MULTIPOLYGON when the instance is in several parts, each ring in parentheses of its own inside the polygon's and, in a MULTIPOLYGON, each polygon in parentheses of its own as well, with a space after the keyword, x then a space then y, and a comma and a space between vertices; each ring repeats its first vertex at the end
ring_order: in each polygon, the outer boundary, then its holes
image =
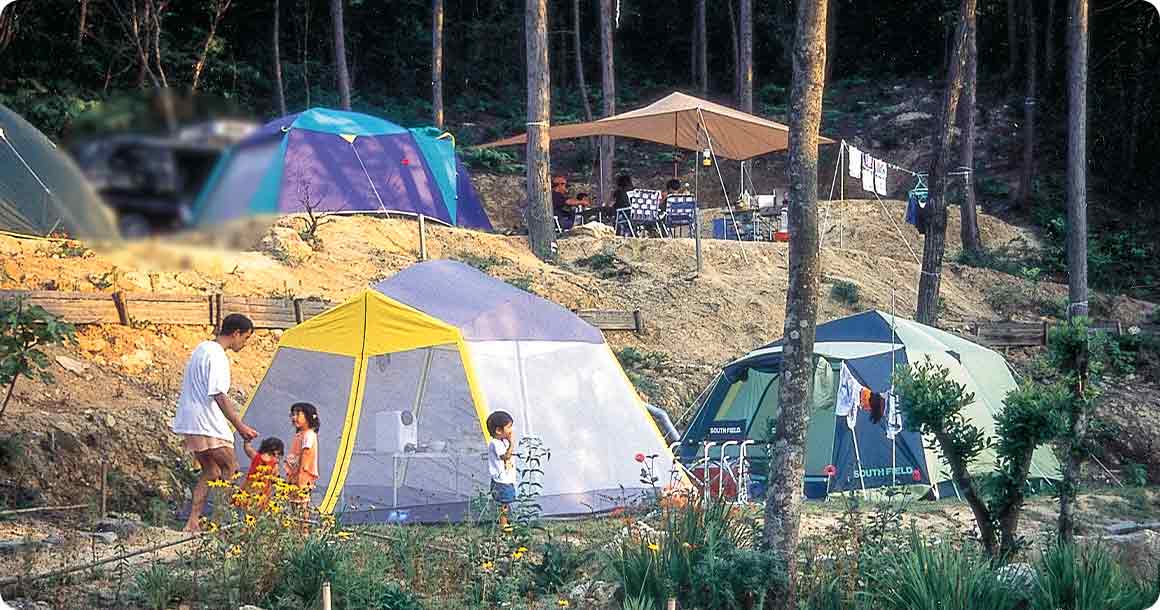
POLYGON ((938 319, 938 284, 942 259, 947 249, 947 169, 955 133, 955 112, 963 92, 966 67, 967 24, 974 21, 976 0, 960 0, 954 51, 947 74, 947 90, 934 132, 934 158, 930 161, 930 195, 927 201, 927 233, 922 246, 922 274, 919 278, 919 306, 915 319, 934 326, 938 319))

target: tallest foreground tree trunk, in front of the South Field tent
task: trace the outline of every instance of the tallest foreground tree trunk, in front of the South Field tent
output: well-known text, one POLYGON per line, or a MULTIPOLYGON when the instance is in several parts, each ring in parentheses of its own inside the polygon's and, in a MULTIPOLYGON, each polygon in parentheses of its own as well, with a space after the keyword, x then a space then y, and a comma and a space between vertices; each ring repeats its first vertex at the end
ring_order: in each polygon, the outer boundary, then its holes
POLYGON ((818 129, 826 71, 826 2, 798 0, 790 92, 790 260, 785 295, 785 347, 777 400, 781 414, 769 448, 766 545, 785 561, 789 594, 773 590, 774 608, 797 608, 798 528, 805 481, 805 431, 813 387, 813 337, 818 320, 818 129))

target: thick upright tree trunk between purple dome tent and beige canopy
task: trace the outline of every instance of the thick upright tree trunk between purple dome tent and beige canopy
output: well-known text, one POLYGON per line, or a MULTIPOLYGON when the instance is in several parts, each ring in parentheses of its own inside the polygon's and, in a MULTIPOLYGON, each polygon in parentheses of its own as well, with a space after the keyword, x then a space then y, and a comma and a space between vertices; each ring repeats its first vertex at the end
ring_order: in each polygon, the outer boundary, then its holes
POLYGON ((548 0, 527 0, 528 48, 528 241, 548 260, 556 249, 552 190, 548 179, 551 75, 548 65, 548 0))

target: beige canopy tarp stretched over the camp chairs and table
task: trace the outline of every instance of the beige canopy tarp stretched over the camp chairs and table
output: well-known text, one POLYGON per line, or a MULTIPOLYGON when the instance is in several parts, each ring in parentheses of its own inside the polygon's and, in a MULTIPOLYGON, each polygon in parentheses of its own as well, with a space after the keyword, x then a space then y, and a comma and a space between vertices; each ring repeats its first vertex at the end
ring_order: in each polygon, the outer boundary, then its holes
MULTIPOLYGON (((789 146, 789 128, 699 97, 673 93, 644 108, 571 125, 552 125, 553 140, 618 136, 667 144, 689 151, 711 148, 725 159, 744 161, 789 146), (703 125, 703 128, 702 128, 703 125), (708 133, 708 138, 706 138, 708 133)), ((484 144, 480 148, 525 144, 527 135, 484 144)), ((821 144, 833 144, 820 138, 821 144)))

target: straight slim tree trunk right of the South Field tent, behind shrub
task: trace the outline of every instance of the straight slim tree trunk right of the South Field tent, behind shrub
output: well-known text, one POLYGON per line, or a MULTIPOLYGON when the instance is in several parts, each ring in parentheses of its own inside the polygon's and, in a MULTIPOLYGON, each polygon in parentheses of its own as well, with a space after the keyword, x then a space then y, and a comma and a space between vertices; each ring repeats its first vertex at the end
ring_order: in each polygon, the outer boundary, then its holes
MULTIPOLYGON (((1067 307, 1068 318, 1088 314, 1087 305, 1087 56, 1088 2, 1071 0, 1067 10, 1067 307)), ((1059 494, 1059 536, 1075 538, 1075 486, 1087 436, 1085 392, 1087 343, 1076 355, 1076 397, 1070 415, 1067 463, 1059 494)))

